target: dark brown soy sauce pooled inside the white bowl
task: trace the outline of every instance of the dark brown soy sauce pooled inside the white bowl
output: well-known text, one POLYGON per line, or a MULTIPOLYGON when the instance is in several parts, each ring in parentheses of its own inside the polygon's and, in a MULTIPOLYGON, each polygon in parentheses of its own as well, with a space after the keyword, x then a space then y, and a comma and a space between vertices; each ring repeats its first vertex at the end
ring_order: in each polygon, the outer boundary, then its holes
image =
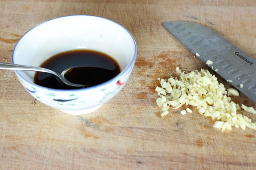
MULTIPOLYGON (((68 81, 82 84, 86 87, 98 85, 114 78, 120 73, 120 67, 115 59, 104 53, 93 50, 72 50, 50 57, 40 65, 57 73, 69 67, 75 67, 65 74, 68 81), (75 67, 78 66, 78 67, 75 67)), ((53 89, 78 89, 60 83, 55 76, 44 72, 36 72, 34 82, 53 89)))

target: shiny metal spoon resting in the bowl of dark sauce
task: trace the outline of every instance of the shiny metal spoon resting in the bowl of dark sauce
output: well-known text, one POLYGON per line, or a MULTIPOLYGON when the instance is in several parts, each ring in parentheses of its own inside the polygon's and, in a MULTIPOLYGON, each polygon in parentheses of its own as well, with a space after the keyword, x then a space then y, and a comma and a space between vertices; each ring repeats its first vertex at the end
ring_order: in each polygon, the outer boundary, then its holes
POLYGON ((28 71, 40 71, 40 72, 45 72, 45 73, 49 73, 54 75, 55 77, 57 77, 62 83, 66 84, 66 85, 70 85, 70 86, 75 86, 75 87, 84 87, 85 85, 81 85, 81 84, 75 84, 75 83, 71 83, 69 82, 65 77, 65 73, 72 69, 73 67, 67 68, 65 70, 63 70, 60 74, 49 70, 49 69, 45 69, 42 67, 34 67, 34 66, 27 66, 27 65, 20 65, 20 64, 12 64, 12 63, 0 63, 0 70, 28 70, 28 71))

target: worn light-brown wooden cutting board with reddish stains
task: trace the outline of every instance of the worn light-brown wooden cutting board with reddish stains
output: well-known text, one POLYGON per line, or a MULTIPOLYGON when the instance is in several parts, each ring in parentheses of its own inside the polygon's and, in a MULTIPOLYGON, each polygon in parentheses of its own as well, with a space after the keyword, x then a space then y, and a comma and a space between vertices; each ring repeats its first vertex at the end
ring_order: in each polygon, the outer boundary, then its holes
MULTIPOLYGON (((16 42, 33 26, 76 14, 109 18, 132 33, 138 51, 131 78, 99 110, 74 116, 35 100, 14 71, 0 70, 1 169, 255 169, 256 130, 221 132, 195 108, 162 118, 155 92, 156 79, 175 75, 177 66, 209 69, 162 22, 202 24, 256 58, 255 1, 2 0, 0 62, 11 62, 16 42)), ((256 108, 243 94, 232 99, 256 108)))

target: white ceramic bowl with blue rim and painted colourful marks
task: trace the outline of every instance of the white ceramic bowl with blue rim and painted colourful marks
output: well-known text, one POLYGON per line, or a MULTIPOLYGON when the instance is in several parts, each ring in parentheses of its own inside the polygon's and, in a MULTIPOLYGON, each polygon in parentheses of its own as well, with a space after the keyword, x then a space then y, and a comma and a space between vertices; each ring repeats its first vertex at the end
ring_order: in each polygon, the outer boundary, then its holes
POLYGON ((106 18, 74 15, 45 21, 25 33, 12 53, 12 63, 40 66, 48 57, 78 48, 112 56, 121 73, 99 85, 76 90, 46 88, 34 83, 34 71, 15 71, 21 84, 37 100, 65 113, 95 111, 125 85, 134 67, 137 48, 132 34, 106 18))

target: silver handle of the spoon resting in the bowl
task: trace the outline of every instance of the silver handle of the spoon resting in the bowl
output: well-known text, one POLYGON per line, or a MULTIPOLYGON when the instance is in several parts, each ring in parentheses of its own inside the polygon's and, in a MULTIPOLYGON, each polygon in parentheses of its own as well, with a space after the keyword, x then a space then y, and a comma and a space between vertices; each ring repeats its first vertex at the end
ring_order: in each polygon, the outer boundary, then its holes
POLYGON ((30 71, 40 71, 40 72, 56 75, 54 71, 45 69, 42 67, 26 66, 26 65, 20 65, 20 64, 12 64, 12 63, 0 63, 0 70, 30 70, 30 71))

